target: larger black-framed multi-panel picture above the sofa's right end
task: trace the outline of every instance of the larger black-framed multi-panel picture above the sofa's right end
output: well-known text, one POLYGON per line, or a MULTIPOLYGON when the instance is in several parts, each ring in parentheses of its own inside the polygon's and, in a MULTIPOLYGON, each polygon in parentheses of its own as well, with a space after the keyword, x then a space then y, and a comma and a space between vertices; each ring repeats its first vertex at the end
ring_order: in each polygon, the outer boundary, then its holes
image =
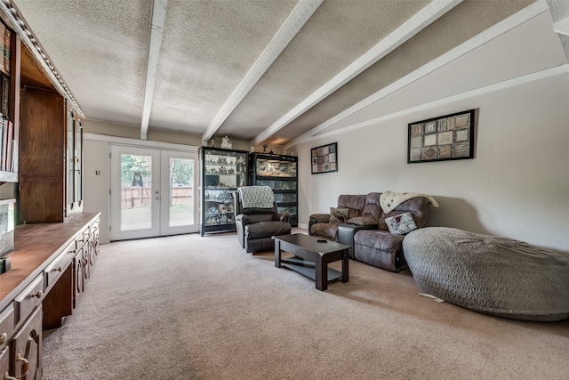
POLYGON ((407 164, 474 158, 474 111, 410 123, 407 164))

